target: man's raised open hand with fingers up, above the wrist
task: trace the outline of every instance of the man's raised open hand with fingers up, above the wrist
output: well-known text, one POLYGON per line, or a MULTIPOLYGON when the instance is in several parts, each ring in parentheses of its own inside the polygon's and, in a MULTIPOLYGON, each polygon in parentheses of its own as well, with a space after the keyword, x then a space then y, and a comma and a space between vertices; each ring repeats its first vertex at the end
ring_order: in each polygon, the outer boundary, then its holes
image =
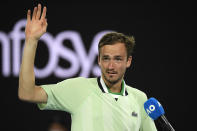
POLYGON ((27 24, 25 28, 26 40, 39 40, 40 37, 46 32, 47 29, 47 19, 46 17, 46 7, 43 8, 41 14, 41 4, 38 7, 34 7, 32 18, 31 11, 27 12, 27 24))

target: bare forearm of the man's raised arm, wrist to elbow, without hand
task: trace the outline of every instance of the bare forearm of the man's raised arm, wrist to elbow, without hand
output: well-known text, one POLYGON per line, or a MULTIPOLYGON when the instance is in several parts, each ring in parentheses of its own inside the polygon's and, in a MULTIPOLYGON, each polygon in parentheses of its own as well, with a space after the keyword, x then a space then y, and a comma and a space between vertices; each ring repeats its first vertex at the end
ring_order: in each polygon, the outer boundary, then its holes
POLYGON ((37 48, 37 40, 26 39, 22 57, 22 64, 19 75, 18 95, 22 100, 29 100, 34 97, 35 74, 34 60, 37 48))

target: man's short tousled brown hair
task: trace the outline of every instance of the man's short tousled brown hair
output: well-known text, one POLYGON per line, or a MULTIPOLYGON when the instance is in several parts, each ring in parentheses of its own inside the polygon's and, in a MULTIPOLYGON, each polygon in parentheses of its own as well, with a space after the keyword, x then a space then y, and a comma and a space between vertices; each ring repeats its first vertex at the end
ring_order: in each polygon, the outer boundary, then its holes
POLYGON ((100 49, 104 45, 113 45, 116 44, 117 42, 125 44, 126 50, 127 50, 127 58, 132 55, 133 49, 135 46, 135 39, 133 36, 127 36, 124 35, 123 33, 118 33, 118 32, 110 32, 105 34, 99 41, 98 44, 98 50, 99 50, 99 55, 100 55, 100 49))

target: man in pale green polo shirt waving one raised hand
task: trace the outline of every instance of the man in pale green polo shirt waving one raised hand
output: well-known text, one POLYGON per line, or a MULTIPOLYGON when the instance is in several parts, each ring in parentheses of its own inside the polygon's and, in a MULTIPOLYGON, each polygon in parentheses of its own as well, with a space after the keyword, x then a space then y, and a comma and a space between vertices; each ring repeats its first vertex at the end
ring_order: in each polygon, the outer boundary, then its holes
POLYGON ((62 110, 72 117, 72 131, 155 131, 143 108, 146 95, 124 82, 132 62, 133 37, 108 33, 99 42, 99 78, 73 78, 57 84, 35 85, 34 59, 39 38, 46 32, 46 7, 27 13, 26 40, 18 95, 40 109, 62 110))

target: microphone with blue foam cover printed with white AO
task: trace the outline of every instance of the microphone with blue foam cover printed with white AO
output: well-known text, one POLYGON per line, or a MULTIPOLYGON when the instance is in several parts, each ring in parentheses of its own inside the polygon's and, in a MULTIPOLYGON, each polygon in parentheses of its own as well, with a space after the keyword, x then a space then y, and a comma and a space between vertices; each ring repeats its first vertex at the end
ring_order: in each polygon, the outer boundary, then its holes
POLYGON ((168 130, 175 131, 172 125, 168 122, 167 118, 164 116, 165 111, 162 105, 154 97, 151 97, 144 103, 144 109, 153 120, 159 119, 162 121, 162 124, 165 124, 168 130))

